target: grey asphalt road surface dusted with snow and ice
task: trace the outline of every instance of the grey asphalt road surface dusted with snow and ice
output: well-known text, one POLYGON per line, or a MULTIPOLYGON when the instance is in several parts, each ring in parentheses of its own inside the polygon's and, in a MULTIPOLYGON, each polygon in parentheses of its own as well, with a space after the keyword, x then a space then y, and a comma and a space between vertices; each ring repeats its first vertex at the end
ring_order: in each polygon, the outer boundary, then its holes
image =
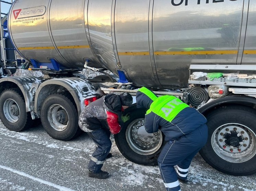
MULTIPOLYGON (((103 166, 110 177, 103 180, 87 176, 95 146, 85 133, 64 142, 51 138, 42 125, 11 132, 0 123, 0 142, 0 191, 165 191, 158 167, 128 161, 113 137, 113 157, 103 166)), ((199 154, 188 178, 182 191, 256 191, 256 175, 220 173, 199 154)))

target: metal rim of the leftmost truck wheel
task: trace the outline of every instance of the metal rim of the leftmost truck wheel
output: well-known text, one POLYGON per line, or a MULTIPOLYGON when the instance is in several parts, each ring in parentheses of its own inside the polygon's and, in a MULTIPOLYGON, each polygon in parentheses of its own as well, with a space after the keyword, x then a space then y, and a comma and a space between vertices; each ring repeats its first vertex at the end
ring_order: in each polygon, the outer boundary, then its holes
POLYGON ((3 104, 3 112, 5 118, 11 123, 15 123, 20 119, 20 108, 13 99, 5 100, 3 104))

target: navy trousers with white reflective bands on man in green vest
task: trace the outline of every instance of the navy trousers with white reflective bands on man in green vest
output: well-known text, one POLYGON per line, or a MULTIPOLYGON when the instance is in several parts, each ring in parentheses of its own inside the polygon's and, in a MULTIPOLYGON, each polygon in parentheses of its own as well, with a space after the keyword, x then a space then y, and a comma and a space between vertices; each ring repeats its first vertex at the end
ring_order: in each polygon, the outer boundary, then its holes
POLYGON ((204 124, 195 131, 165 144, 158 157, 158 165, 167 191, 181 190, 178 178, 187 179, 190 163, 206 144, 207 137, 208 127, 204 124))

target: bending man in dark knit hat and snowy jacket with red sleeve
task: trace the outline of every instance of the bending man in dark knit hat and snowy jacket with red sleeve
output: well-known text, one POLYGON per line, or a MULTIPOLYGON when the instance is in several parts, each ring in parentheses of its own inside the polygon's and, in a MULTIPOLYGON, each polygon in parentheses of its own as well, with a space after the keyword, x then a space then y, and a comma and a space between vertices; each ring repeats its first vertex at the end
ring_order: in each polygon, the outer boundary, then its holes
POLYGON ((110 133, 120 132, 120 124, 127 120, 123 118, 122 111, 131 105, 132 96, 129 93, 108 94, 90 103, 80 114, 80 128, 88 133, 97 145, 88 165, 89 177, 108 177, 109 173, 101 168, 112 146, 110 133))

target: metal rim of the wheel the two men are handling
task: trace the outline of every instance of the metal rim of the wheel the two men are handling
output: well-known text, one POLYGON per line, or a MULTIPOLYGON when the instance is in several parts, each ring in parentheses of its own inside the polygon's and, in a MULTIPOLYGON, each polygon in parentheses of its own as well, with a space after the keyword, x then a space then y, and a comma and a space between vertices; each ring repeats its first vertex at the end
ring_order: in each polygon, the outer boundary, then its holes
POLYGON ((144 119, 132 121, 126 129, 126 140, 130 148, 138 154, 150 155, 160 149, 163 143, 161 131, 147 133, 144 119))

